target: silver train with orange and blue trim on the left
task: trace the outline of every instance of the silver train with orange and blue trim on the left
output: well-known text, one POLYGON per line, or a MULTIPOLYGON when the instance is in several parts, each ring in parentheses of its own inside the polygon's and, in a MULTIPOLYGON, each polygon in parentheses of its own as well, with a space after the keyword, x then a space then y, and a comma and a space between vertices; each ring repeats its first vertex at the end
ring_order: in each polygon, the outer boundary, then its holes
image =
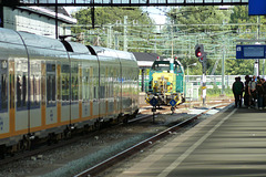
POLYGON ((0 29, 0 155, 139 110, 132 53, 0 29))

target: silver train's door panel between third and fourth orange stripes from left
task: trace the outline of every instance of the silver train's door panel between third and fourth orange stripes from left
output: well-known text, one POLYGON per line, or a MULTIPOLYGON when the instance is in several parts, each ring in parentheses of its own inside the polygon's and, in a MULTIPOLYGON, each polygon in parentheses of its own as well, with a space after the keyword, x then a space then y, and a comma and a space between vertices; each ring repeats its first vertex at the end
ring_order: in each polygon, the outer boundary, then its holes
POLYGON ((58 122, 55 75, 55 63, 47 63, 47 125, 55 124, 58 122))

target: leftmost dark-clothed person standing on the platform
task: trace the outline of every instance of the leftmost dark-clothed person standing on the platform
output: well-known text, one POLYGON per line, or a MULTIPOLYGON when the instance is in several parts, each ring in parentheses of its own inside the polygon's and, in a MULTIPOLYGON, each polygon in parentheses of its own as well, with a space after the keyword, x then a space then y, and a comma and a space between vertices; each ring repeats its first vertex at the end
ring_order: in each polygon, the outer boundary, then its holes
POLYGON ((241 77, 235 77, 235 82, 233 83, 232 90, 235 96, 235 108, 237 106, 242 107, 242 96, 244 91, 244 84, 241 81, 241 77))

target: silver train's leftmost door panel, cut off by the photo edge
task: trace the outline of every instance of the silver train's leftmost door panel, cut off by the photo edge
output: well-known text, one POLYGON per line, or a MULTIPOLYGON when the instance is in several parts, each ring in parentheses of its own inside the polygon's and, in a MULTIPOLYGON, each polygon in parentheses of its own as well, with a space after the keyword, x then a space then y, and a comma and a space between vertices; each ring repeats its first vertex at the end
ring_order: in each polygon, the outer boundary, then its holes
POLYGON ((0 62, 0 137, 9 133, 8 114, 8 62, 0 62))

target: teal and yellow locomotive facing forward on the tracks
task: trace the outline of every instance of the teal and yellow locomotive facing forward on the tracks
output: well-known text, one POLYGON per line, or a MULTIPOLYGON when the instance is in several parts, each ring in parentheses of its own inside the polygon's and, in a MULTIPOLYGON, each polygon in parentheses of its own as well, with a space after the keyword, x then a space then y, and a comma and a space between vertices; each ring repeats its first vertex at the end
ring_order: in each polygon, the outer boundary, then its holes
POLYGON ((153 106, 178 105, 185 102, 184 69, 173 59, 155 61, 150 70, 146 102, 153 106))

